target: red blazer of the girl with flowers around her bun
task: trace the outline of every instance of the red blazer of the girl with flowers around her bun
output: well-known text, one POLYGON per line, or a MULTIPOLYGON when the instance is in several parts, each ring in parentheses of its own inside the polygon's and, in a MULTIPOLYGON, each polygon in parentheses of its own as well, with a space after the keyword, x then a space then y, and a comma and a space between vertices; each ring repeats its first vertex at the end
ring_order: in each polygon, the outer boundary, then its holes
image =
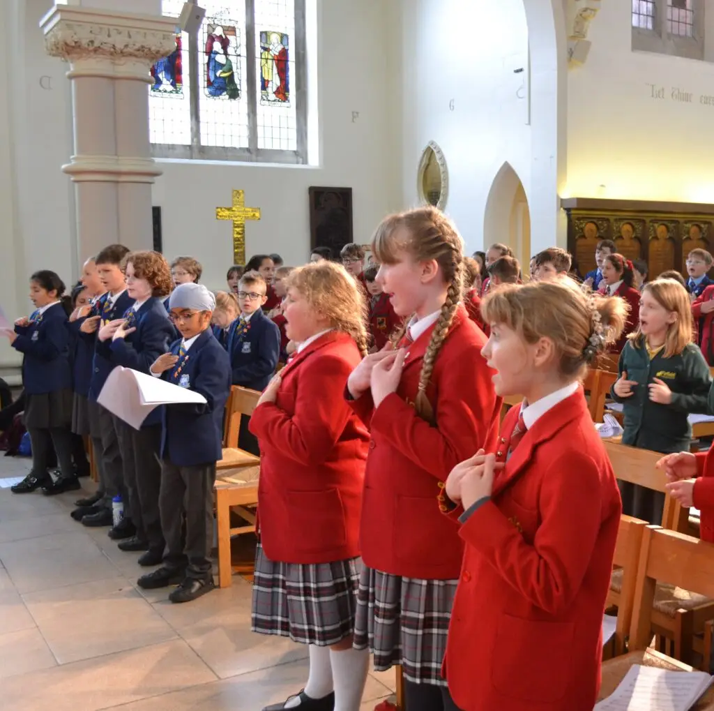
MULTIPOLYGON (((518 412, 503 421, 501 461, 518 412)), ((443 665, 459 708, 593 708, 620 511, 578 389, 528 430, 459 530, 466 552, 443 665)))

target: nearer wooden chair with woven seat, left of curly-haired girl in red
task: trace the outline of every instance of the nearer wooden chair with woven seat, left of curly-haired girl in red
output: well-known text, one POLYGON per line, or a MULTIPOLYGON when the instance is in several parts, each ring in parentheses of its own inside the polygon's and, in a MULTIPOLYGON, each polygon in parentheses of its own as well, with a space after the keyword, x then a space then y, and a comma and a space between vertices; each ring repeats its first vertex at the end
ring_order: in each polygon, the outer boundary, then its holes
POLYGON ((218 524, 218 584, 230 587, 231 537, 252 533, 256 529, 254 507, 258 504, 258 477, 260 467, 239 467, 221 472, 216 479, 216 520, 218 524), (231 510, 247 524, 231 528, 231 510))

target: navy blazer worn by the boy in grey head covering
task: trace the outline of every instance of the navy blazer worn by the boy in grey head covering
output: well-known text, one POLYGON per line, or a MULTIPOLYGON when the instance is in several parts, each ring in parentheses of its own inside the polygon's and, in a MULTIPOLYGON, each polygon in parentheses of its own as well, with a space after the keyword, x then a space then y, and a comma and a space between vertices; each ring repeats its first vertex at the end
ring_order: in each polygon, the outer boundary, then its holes
MULTIPOLYGON (((171 345, 174 355, 182 342, 171 345)), ((161 377, 206 398, 206 404, 162 408, 161 457, 177 467, 217 462, 222 456, 223 409, 231 392, 231 361, 211 329, 198 336, 186 357, 161 377)))

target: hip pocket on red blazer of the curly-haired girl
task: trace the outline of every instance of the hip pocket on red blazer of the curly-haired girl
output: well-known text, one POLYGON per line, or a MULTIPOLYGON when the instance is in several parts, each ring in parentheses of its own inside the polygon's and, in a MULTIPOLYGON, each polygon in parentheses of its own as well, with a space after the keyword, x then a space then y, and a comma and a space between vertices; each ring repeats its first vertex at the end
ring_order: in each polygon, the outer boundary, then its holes
POLYGON ((338 489, 286 494, 288 530, 295 550, 319 553, 346 544, 345 510, 338 489))

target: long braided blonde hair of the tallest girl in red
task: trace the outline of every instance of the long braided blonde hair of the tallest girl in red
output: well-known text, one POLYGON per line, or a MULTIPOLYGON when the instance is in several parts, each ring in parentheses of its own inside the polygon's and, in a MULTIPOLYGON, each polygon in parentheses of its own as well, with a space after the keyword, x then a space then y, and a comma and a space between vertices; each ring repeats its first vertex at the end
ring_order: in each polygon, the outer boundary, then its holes
MULTIPOLYGON (((463 239, 456 226, 436 207, 417 209, 386 217, 372 239, 372 251, 381 263, 398 261, 398 252, 407 252, 417 262, 436 260, 443 280, 448 284, 446 300, 436 321, 431 340, 424 354, 419 387, 416 395, 416 412, 427 422, 435 422, 433 407, 426 396, 436 357, 453 325, 463 284, 463 239)), ((393 334, 397 344, 406 332, 406 322, 393 334)))

